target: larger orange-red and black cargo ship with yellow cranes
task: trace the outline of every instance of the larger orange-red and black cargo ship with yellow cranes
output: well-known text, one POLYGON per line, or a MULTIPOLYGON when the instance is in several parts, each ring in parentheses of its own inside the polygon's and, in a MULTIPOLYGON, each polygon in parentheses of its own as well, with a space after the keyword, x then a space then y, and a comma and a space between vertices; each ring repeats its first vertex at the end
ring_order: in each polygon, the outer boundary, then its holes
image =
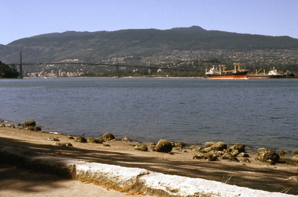
POLYGON ((216 68, 210 68, 207 72, 206 69, 206 76, 210 79, 247 79, 248 70, 241 70, 240 63, 234 63, 235 70, 227 70, 225 71, 225 65, 219 65, 219 70, 216 68), (238 66, 238 69, 236 69, 238 66), (221 69, 223 68, 223 70, 221 69))

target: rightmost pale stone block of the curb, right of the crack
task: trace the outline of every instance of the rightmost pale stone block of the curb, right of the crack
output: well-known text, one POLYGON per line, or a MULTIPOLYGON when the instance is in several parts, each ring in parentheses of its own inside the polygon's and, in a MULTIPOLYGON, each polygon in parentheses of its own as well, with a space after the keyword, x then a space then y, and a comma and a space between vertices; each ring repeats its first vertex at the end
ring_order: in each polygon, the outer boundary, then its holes
POLYGON ((139 178, 139 190, 157 196, 194 197, 194 196, 226 196, 226 197, 289 197, 284 193, 253 190, 236 185, 199 178, 167 175, 162 173, 147 174, 139 178))

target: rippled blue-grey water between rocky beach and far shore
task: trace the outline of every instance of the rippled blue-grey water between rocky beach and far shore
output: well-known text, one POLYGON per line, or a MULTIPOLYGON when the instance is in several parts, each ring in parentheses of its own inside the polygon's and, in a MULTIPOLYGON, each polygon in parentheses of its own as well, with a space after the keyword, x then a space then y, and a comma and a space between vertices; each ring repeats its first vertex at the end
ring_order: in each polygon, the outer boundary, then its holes
POLYGON ((0 119, 44 131, 298 149, 298 80, 0 79, 0 119))

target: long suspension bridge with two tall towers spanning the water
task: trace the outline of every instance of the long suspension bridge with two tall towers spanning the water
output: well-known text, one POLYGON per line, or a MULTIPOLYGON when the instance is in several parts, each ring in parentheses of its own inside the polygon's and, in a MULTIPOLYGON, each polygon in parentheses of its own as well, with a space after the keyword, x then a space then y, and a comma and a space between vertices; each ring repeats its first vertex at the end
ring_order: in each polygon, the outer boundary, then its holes
MULTIPOLYGON (((18 52, 17 52, 18 53, 18 52)), ((12 56, 13 53, 9 56, 12 56)), ((9 57, 6 56, 6 57, 9 57)), ((6 58, 4 57, 4 58, 6 58)), ((1 58, 1 59, 4 59, 1 58)), ((0 59, 0 60, 1 60, 0 59)), ((125 65, 119 64, 118 53, 116 54, 115 64, 103 64, 103 63, 85 63, 85 62, 35 62, 35 63, 23 63, 22 62, 22 51, 20 51, 20 62, 19 63, 9 63, 7 65, 19 65, 19 78, 23 78, 23 65, 49 65, 49 64, 80 64, 80 65, 97 65, 97 66, 114 66, 116 69, 116 77, 119 77, 119 67, 135 67, 135 68, 146 68, 146 69, 160 69, 160 70, 176 70, 176 71, 190 71, 190 72, 205 72, 205 70, 191 70, 191 69, 179 69, 179 68, 164 68, 164 67, 150 67, 150 66, 140 66, 140 65, 125 65)))

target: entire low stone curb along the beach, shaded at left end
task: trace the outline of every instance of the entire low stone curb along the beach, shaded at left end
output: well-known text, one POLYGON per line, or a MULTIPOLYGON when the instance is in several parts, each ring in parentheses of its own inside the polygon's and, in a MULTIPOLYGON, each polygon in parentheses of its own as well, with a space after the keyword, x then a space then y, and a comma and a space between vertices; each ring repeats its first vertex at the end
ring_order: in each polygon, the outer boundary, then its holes
POLYGON ((139 190, 148 195, 175 197, 294 196, 284 193, 253 190, 205 179, 156 173, 141 168, 127 168, 49 155, 38 155, 29 149, 8 146, 0 147, 0 160, 64 177, 108 183, 125 190, 139 190))

